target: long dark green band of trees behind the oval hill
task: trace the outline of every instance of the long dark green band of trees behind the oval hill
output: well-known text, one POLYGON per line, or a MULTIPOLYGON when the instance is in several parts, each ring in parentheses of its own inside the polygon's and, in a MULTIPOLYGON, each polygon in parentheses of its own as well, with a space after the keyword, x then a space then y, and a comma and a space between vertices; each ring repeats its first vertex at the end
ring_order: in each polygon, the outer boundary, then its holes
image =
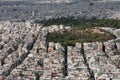
POLYGON ((62 18, 49 19, 43 21, 36 20, 35 23, 41 23, 44 26, 62 24, 65 26, 80 27, 80 28, 91 28, 91 27, 120 28, 120 20, 115 20, 115 19, 62 17, 62 18))

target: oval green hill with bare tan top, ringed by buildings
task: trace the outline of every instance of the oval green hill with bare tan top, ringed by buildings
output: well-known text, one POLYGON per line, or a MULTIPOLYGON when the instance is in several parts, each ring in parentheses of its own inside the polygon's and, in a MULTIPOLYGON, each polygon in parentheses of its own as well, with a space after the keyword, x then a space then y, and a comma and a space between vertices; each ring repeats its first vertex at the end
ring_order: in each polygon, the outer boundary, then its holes
POLYGON ((47 42, 59 42, 63 46, 74 46, 76 42, 107 41, 116 38, 113 34, 97 28, 71 28, 49 33, 47 42))

